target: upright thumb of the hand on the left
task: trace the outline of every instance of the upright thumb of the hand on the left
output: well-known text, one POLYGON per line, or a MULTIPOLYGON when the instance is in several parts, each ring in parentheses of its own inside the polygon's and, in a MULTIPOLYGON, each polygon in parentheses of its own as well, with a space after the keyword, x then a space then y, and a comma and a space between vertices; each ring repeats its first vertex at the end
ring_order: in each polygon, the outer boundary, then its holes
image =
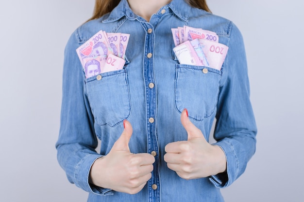
POLYGON ((122 131, 120 137, 113 145, 112 149, 117 151, 130 151, 129 141, 133 133, 132 125, 129 121, 123 121, 124 130, 122 131))

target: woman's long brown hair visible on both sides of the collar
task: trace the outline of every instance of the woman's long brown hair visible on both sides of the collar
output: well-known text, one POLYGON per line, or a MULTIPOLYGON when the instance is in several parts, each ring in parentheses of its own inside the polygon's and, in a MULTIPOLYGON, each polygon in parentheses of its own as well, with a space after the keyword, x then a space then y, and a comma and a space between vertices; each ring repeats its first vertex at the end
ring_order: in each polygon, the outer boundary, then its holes
MULTIPOLYGON (((88 21, 98 19, 102 15, 110 13, 118 5, 119 1, 120 0, 95 0, 93 16, 88 19, 88 21)), ((200 8, 211 13, 205 0, 186 0, 186 2, 190 6, 200 8)))

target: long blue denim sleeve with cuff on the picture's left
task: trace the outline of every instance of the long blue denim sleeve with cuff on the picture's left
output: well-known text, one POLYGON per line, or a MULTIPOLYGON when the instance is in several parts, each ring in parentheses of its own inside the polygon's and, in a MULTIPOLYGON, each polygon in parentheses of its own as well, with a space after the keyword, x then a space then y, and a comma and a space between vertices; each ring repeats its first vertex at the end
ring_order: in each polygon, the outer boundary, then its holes
POLYGON ((84 72, 76 52, 80 45, 78 36, 76 30, 65 49, 57 159, 70 183, 87 192, 112 194, 110 189, 92 186, 88 182, 90 168, 101 155, 95 151, 98 141, 84 87, 84 72))

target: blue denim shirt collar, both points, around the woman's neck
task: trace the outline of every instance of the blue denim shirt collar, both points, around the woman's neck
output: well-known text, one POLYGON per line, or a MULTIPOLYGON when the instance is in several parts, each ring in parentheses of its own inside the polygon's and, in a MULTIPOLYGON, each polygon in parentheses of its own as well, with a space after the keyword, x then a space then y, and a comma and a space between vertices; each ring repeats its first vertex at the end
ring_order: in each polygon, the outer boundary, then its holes
MULTIPOLYGON (((184 21, 188 21, 191 7, 185 2, 185 0, 172 0, 166 6, 168 6, 179 18, 184 21)), ((134 14, 131 10, 127 0, 120 0, 118 5, 102 22, 115 22, 123 16, 126 16, 130 20, 134 20, 137 17, 136 14, 134 14)))

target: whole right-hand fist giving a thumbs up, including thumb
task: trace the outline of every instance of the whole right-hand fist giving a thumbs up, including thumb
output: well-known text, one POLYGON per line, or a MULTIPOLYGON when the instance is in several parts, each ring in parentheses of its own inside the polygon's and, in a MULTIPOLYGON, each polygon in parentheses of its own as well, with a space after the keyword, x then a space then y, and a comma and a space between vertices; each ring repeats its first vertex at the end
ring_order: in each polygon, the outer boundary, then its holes
POLYGON ((226 170, 226 157, 217 145, 209 144, 201 130, 188 118, 185 109, 181 122, 188 133, 187 141, 169 143, 164 160, 169 169, 184 179, 196 179, 222 173, 226 170))

